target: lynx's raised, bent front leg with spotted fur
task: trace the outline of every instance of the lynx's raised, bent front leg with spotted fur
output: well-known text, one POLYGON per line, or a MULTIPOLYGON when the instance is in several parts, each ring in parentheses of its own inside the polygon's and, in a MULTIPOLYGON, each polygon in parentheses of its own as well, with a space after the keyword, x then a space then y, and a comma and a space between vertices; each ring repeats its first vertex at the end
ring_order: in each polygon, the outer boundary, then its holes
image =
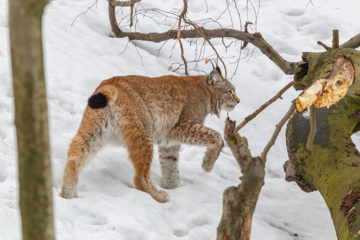
POLYGON ((220 150, 224 146, 220 133, 204 127, 200 123, 177 124, 171 130, 169 137, 185 144, 206 146, 204 160, 201 164, 205 172, 211 172, 216 159, 219 157, 220 150))

